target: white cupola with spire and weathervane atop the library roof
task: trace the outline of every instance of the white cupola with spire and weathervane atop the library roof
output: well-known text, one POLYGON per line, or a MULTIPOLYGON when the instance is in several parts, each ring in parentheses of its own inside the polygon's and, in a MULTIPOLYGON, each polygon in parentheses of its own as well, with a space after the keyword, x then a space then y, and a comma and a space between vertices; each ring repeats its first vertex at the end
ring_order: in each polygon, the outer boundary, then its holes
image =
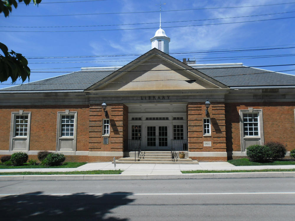
MULTIPOLYGON (((165 5, 166 3, 163 3, 165 5)), ((160 28, 156 31, 155 36, 150 39, 152 49, 156 48, 166 54, 169 54, 170 38, 167 37, 165 31, 161 29, 161 4, 160 4, 160 28)))

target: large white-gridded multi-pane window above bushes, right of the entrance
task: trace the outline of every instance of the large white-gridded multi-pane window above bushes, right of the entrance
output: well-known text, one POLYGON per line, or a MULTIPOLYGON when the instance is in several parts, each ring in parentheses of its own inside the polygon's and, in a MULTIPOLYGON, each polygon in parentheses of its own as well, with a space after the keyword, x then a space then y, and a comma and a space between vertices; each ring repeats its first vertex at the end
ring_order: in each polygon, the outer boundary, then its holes
POLYGON ((258 113, 244 113, 244 136, 258 136, 258 113))

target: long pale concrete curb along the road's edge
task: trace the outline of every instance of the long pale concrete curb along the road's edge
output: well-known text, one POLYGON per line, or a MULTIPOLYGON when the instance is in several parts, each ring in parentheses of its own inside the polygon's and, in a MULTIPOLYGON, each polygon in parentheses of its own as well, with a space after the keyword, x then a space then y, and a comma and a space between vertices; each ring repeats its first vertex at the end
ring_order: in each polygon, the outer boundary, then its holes
POLYGON ((212 179, 212 178, 295 177, 295 172, 202 173, 180 175, 2 175, 0 181, 14 180, 132 180, 132 179, 212 179))

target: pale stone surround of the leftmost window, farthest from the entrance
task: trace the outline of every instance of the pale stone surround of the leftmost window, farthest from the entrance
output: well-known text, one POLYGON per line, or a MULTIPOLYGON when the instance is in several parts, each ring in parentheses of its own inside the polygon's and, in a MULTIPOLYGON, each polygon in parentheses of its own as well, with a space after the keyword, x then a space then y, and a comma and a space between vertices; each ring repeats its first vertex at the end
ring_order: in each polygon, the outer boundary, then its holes
POLYGON ((30 128, 31 128, 31 112, 24 112, 23 110, 19 110, 18 112, 11 113, 9 151, 29 151, 30 128), (28 116, 27 136, 15 136, 17 116, 28 116), (24 142, 25 146, 23 148, 15 149, 15 142, 24 142))

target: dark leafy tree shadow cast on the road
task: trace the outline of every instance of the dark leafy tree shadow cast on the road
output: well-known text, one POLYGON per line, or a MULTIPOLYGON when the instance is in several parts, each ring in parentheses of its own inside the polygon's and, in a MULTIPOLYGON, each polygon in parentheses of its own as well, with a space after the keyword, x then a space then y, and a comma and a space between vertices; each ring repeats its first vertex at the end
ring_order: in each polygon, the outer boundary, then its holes
POLYGON ((131 192, 103 195, 76 193, 71 195, 42 195, 32 192, 0 199, 3 220, 128 220, 112 216, 112 209, 134 201, 131 192))

